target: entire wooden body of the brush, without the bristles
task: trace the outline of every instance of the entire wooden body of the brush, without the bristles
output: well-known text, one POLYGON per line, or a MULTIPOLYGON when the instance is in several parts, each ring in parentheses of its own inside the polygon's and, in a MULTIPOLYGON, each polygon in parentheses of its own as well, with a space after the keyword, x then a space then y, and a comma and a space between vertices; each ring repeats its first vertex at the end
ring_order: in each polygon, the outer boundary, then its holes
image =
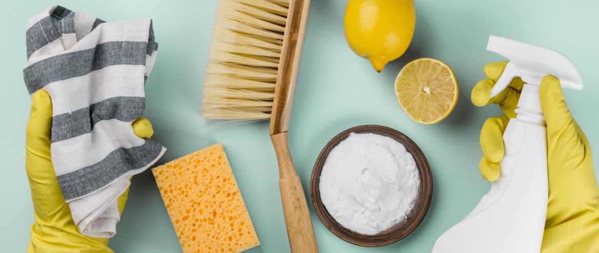
POLYGON ((270 137, 277 153, 277 161, 279 161, 279 187, 283 212, 285 213, 289 245, 291 245, 291 252, 294 253, 318 252, 304 188, 295 172, 287 142, 289 118, 291 117, 295 82, 299 72, 299 58, 304 43, 309 9, 310 0, 292 0, 289 3, 277 83, 274 90, 273 111, 270 118, 270 137))

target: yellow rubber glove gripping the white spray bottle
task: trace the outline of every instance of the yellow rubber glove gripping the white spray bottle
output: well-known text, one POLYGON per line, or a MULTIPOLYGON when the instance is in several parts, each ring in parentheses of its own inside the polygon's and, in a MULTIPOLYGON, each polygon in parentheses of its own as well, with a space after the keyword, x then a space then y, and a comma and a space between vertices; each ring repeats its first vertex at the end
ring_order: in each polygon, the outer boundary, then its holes
MULTIPOLYGON (((472 90, 476 106, 498 104, 505 116, 489 118, 480 131, 480 174, 489 181, 500 176, 499 162, 504 156, 503 132, 522 89, 516 78, 495 98, 491 88, 507 62, 487 64, 487 80, 472 90)), ((541 252, 599 252, 599 189, 595 179, 591 146, 565 103, 559 79, 547 75, 540 86, 541 109, 547 122, 547 173, 549 203, 541 252)))

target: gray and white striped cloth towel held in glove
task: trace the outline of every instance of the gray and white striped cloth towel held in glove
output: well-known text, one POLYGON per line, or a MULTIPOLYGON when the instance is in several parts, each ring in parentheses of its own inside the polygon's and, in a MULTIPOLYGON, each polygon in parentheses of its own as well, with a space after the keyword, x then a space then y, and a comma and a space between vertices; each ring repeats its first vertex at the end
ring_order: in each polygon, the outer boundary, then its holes
POLYGON ((52 99, 52 164, 73 220, 87 236, 111 237, 129 177, 166 150, 131 127, 158 49, 152 20, 104 22, 52 6, 29 20, 26 42, 25 85, 52 99))

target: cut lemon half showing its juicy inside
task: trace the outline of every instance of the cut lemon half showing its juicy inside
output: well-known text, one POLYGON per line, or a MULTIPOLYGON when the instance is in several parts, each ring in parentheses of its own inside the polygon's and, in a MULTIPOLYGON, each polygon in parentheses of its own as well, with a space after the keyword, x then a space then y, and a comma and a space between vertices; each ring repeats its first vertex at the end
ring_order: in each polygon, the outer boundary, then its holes
POLYGON ((395 79, 401 109, 420 124, 435 124, 446 118, 458 102, 458 94, 453 70, 437 59, 409 62, 395 79))

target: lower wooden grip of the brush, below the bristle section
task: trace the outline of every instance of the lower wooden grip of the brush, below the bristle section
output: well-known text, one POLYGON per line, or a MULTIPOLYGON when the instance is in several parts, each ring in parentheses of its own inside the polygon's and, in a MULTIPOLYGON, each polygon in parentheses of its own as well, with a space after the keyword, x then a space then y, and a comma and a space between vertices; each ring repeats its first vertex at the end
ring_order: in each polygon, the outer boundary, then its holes
POLYGON ((271 135, 270 138, 279 161, 279 187, 291 252, 318 252, 304 188, 295 172, 294 162, 289 153, 287 132, 271 135))

